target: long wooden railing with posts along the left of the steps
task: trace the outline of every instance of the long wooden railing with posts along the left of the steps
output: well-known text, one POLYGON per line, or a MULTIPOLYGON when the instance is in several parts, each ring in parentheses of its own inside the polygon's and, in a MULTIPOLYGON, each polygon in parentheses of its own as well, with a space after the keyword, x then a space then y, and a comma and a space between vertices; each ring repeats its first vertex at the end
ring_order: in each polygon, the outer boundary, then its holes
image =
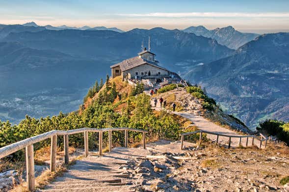
POLYGON ((59 131, 53 130, 47 133, 43 133, 28 139, 16 142, 14 144, 9 144, 7 146, 0 148, 0 158, 6 157, 18 150, 26 148, 26 172, 27 172, 27 186, 29 191, 35 190, 35 175, 34 175, 34 151, 33 144, 44 141, 48 138, 51 138, 51 156, 50 156, 50 171, 55 171, 56 168, 56 146, 57 146, 57 136, 64 137, 64 162, 65 164, 69 163, 69 153, 68 153, 68 136, 77 133, 84 133, 84 156, 88 156, 88 132, 99 132, 99 155, 102 155, 102 146, 103 146, 103 132, 108 131, 108 145, 109 151, 112 148, 112 131, 125 131, 125 147, 128 146, 128 132, 142 132, 142 142, 143 148, 146 148, 145 145, 145 136, 147 131, 141 129, 132 129, 128 127, 121 128, 104 128, 104 129, 95 129, 95 128, 81 128, 73 129, 68 131, 59 131))

